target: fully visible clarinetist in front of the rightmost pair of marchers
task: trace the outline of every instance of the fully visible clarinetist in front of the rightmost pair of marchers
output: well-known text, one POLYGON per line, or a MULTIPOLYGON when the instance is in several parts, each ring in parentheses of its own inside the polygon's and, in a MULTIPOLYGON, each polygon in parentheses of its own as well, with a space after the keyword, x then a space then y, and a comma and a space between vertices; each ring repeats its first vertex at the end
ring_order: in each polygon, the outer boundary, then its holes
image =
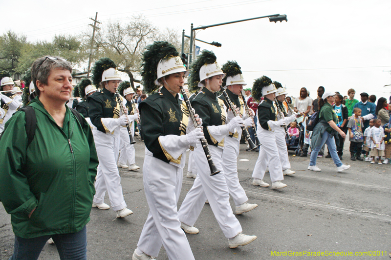
MULTIPOLYGON (((281 189, 286 187, 286 184, 281 182, 284 177, 279 149, 277 146, 278 137, 276 131, 279 131, 279 128, 282 128, 281 126, 283 124, 287 125, 296 117, 295 115, 292 115, 278 120, 277 104, 274 103, 274 98, 276 97, 277 92, 278 90, 272 83, 272 80, 266 76, 262 76, 255 80, 253 84, 253 98, 255 100, 261 100, 261 97, 264 97, 258 105, 257 110, 257 135, 262 145, 260 146, 260 154, 257 162, 255 163, 252 175, 254 178, 253 185, 269 187, 269 184, 263 181, 266 167, 269 166, 272 189, 281 189)), ((285 135, 283 138, 285 140, 285 135)))

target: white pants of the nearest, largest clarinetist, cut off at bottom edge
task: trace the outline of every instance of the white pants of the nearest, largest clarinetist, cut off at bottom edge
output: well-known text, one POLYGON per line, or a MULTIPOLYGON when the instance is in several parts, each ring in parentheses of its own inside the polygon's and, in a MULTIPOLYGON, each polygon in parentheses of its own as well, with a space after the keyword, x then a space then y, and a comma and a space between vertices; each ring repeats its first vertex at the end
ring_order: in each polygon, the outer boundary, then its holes
POLYGON ((183 169, 145 155, 143 179, 150 212, 137 247, 147 255, 157 257, 163 244, 170 260, 194 260, 186 235, 180 228, 176 206, 182 175, 183 169))

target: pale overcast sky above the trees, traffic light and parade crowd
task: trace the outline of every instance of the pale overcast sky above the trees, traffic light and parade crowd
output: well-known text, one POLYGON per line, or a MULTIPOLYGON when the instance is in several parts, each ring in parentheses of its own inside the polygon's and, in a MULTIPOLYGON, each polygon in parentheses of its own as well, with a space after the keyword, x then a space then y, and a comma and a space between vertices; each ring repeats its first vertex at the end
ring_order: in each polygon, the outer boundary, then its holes
POLYGON ((102 22, 141 13, 161 29, 187 35, 192 22, 285 14, 288 22, 266 18, 200 30, 198 39, 222 47, 197 45, 214 51, 220 64, 237 60, 248 86, 266 75, 295 97, 306 87, 316 98, 321 85, 343 95, 354 88, 357 99, 364 91, 387 99, 391 93, 383 87, 391 84, 390 0, 3 0, 1 10, 0 32, 23 33, 30 41, 86 30, 95 12, 102 22))

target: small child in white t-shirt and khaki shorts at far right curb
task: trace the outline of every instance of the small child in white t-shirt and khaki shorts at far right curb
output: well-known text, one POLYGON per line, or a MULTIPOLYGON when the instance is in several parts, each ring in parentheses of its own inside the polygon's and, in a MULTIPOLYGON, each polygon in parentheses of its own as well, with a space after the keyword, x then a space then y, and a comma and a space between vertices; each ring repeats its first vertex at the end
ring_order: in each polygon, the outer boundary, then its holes
POLYGON ((379 157, 378 164, 383 164, 381 157, 384 156, 384 149, 386 148, 384 143, 384 129, 381 127, 382 121, 380 119, 374 120, 374 127, 370 129, 369 137, 372 140, 370 144, 370 153, 371 161, 370 163, 375 163, 375 158, 379 157))

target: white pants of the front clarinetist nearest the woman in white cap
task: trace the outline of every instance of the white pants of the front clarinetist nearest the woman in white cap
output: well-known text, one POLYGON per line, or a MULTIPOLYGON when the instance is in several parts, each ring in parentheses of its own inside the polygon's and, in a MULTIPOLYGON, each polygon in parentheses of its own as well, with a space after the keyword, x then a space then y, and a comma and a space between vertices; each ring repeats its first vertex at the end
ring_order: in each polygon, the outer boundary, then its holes
POLYGON ((265 130, 259 126, 257 135, 262 145, 260 146, 260 154, 255 163, 252 177, 262 180, 265 175, 266 166, 269 165, 270 179, 272 182, 283 180, 280 155, 274 132, 265 130))

